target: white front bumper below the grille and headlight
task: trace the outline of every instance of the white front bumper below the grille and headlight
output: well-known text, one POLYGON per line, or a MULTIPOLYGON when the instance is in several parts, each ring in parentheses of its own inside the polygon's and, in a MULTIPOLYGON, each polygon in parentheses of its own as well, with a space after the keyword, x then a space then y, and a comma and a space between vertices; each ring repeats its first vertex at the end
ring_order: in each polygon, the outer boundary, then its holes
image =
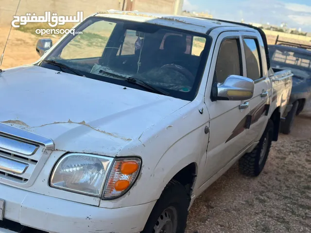
MULTIPOLYGON (((0 184, 4 218, 52 233, 138 233, 155 205, 107 209, 0 184)), ((1 226, 1 222, 0 222, 1 226)), ((0 233, 10 232, 0 227, 0 233)))

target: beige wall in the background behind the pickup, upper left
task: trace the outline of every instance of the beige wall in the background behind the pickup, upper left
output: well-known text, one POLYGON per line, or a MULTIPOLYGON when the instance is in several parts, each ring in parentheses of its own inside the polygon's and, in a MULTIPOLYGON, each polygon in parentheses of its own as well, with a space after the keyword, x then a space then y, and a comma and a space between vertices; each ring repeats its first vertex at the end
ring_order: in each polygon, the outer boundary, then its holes
MULTIPOLYGON (((83 16, 87 17, 110 9, 180 15, 184 0, 26 0, 22 2, 23 4, 18 8, 18 16, 30 12, 39 16, 44 15, 45 11, 60 16, 75 16, 77 11, 83 11, 83 16)), ((3 3, 0 6, 1 27, 11 26, 17 0, 6 1, 4 5, 4 8, 3 3)))

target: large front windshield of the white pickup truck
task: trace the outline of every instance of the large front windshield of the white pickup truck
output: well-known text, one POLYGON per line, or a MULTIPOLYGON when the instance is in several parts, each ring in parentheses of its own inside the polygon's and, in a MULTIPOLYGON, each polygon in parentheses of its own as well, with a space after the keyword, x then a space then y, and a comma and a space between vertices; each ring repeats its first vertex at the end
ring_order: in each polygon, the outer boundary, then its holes
POLYGON ((82 34, 68 35, 45 57, 50 62, 39 65, 58 70, 55 62, 61 63, 86 78, 146 91, 126 82, 134 78, 175 98, 194 99, 211 44, 209 36, 103 17, 88 18, 76 31, 82 34))

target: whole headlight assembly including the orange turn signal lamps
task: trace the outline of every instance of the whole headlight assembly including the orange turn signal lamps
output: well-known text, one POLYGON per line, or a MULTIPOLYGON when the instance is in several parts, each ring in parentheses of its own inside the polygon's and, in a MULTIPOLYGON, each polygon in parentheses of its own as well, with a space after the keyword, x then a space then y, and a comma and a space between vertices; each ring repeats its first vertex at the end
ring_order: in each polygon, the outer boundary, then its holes
POLYGON ((120 197, 135 182, 141 161, 139 158, 113 160, 91 154, 65 155, 54 167, 50 185, 103 199, 120 197))

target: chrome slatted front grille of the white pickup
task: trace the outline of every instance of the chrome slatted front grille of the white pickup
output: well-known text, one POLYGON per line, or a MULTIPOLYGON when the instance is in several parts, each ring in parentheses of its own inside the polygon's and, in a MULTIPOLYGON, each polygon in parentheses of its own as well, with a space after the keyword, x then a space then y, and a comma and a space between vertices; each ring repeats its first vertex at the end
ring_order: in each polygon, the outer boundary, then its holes
POLYGON ((0 123, 0 182, 32 185, 54 144, 41 137, 0 123))

